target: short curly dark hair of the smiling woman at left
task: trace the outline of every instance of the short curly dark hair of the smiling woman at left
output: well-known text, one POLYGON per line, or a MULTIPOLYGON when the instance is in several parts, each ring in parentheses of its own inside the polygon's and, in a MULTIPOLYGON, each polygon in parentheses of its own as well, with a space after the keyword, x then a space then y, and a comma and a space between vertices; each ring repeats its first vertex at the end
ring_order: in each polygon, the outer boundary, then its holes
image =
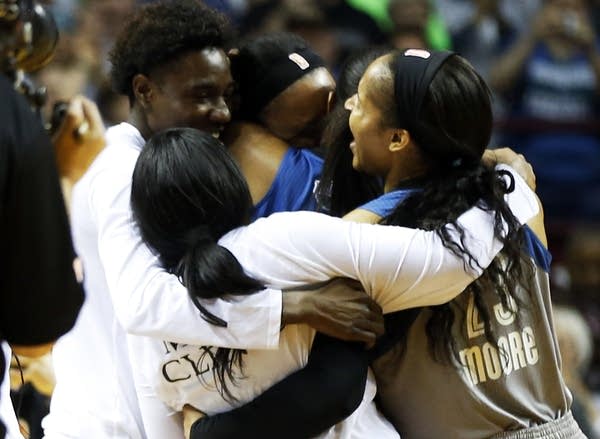
POLYGON ((121 30, 109 57, 113 88, 134 101, 132 79, 190 50, 229 46, 228 18, 198 0, 159 1, 141 7, 121 30))

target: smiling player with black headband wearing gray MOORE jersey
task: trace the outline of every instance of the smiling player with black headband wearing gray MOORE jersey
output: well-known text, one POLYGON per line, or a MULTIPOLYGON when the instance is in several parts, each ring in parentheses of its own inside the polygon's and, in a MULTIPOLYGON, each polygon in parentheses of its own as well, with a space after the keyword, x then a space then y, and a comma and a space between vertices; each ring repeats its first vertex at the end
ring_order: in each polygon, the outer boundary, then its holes
MULTIPOLYGON (((463 58, 412 49, 385 55, 346 106, 353 167, 384 182, 385 194, 363 206, 371 220, 435 230, 452 248, 440 226, 481 199, 498 211, 505 171, 481 161, 490 94, 463 58)), ((560 371, 543 222, 509 235, 456 299, 422 308, 408 330, 402 316, 399 331, 386 322, 392 342, 373 370, 381 408, 402 436, 585 437, 560 371)))

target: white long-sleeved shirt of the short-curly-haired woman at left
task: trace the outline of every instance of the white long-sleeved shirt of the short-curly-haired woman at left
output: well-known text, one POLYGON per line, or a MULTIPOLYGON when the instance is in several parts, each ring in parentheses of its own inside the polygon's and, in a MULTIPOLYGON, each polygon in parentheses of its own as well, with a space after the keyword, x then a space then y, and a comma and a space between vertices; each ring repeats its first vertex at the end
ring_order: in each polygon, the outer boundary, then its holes
POLYGON ((279 290, 236 303, 207 302, 214 314, 232 322, 228 328, 202 319, 131 219, 131 176, 144 139, 127 123, 110 128, 106 138, 106 148, 73 191, 73 241, 84 266, 86 301, 75 327, 53 350, 57 382, 43 423, 49 438, 146 437, 126 331, 241 348, 273 348, 279 341, 279 290))

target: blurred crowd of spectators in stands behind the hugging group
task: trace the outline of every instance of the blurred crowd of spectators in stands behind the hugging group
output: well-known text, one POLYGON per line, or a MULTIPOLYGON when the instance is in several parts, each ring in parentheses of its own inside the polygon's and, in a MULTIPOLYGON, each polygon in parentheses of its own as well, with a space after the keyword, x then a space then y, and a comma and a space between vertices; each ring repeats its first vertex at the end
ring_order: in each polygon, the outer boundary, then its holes
MULTIPOLYGON (((61 39, 53 62, 36 76, 48 88, 47 116, 57 101, 84 94, 107 126, 127 119, 127 98, 107 79, 107 52, 125 17, 147 2, 51 2, 61 39)), ((600 395, 600 1, 205 3, 225 12, 240 38, 281 30, 301 35, 334 73, 355 49, 390 45, 454 50, 486 78, 495 108, 491 146, 510 146, 534 166, 554 258, 554 300, 562 306, 556 320, 561 348, 568 346, 566 379, 594 437, 600 424, 594 399, 600 395)), ((47 395, 48 382, 51 377, 38 384, 47 395)), ((35 410, 43 411, 44 402, 23 397, 24 391, 30 392, 21 389, 20 404, 41 404, 35 410)))

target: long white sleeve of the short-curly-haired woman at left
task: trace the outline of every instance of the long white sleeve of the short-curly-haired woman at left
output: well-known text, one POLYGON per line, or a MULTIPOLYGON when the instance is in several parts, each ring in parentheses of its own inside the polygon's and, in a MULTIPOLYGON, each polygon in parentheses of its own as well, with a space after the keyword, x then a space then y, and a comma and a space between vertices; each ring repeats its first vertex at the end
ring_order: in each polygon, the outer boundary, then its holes
POLYGON ((207 300, 205 307, 228 326, 206 322, 186 288, 142 242, 131 218, 131 173, 105 169, 94 176, 91 188, 88 202, 98 228, 98 251, 117 319, 127 332, 199 346, 278 346, 281 291, 207 300))

